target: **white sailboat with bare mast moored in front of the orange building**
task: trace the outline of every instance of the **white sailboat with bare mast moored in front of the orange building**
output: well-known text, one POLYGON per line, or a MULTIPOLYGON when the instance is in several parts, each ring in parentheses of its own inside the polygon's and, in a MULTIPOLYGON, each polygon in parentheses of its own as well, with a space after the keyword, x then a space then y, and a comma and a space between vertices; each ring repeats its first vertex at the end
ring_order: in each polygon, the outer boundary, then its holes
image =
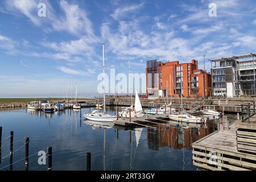
POLYGON ((172 120, 172 121, 178 121, 178 122, 189 122, 189 123, 202 123, 204 122, 203 118, 200 117, 195 117, 191 114, 188 113, 184 113, 183 114, 183 83, 182 83, 183 79, 181 77, 181 114, 170 114, 168 115, 168 117, 172 120))

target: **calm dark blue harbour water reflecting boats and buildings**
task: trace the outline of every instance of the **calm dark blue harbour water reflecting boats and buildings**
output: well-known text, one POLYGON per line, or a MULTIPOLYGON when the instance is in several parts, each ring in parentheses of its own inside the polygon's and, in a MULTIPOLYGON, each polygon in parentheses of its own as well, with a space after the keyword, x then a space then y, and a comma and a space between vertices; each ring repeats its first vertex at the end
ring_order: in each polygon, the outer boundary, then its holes
MULTIPOLYGON (((89 111, 82 109, 81 114, 89 111)), ((135 131, 88 123, 80 118, 80 111, 44 114, 24 109, 0 111, 0 126, 2 170, 9 170, 10 131, 14 131, 14 170, 24 170, 24 137, 30 138, 30 170, 47 169, 38 164, 37 153, 49 146, 53 170, 86 170, 87 152, 92 153, 92 170, 196 170, 191 143, 212 133, 216 124, 209 122, 207 128, 174 125, 169 130, 159 125, 155 134, 146 128, 135 131)))

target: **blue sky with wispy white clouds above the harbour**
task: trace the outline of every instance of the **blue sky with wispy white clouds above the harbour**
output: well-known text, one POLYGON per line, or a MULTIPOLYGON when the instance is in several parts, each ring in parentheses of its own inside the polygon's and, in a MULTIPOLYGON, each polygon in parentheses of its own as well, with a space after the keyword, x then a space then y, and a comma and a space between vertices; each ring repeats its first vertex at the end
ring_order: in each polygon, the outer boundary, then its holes
POLYGON ((133 73, 152 59, 203 69, 203 55, 210 71, 210 59, 256 52, 255 27, 254 0, 2 0, 0 97, 64 96, 72 82, 79 96, 97 96, 102 42, 106 73, 128 74, 129 59, 133 73))

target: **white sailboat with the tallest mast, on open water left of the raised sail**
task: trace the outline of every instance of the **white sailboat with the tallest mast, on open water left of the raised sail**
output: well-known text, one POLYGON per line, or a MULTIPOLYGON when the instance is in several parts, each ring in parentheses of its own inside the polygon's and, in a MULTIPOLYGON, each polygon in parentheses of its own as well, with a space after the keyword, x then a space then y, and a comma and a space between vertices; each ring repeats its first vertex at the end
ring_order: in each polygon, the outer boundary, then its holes
POLYGON ((103 49, 103 82, 104 82, 104 112, 101 110, 94 110, 92 113, 84 114, 86 119, 91 121, 100 121, 100 122, 114 122, 117 117, 115 115, 110 115, 106 113, 106 90, 105 90, 105 43, 102 44, 103 49))

